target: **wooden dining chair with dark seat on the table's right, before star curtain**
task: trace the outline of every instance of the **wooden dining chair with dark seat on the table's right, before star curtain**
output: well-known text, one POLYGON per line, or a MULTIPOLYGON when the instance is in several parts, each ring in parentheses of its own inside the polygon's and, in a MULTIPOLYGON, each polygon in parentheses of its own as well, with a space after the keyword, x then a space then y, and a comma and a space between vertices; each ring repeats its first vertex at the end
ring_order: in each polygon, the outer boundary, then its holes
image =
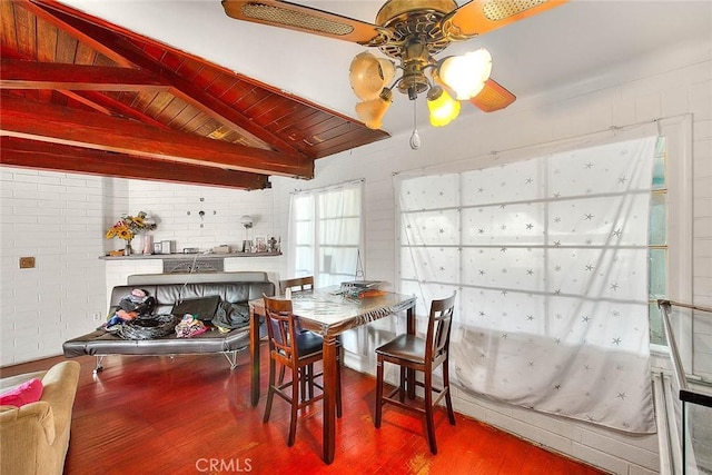
POLYGON ((447 406, 449 423, 455 425, 455 413, 453 413, 453 403, 451 400, 448 375, 449 333, 455 308, 455 295, 456 293, 451 297, 431 303, 431 314, 425 338, 407 334, 398 335, 390 342, 376 348, 376 417, 374 420, 376 428, 380 427, 383 406, 385 404, 393 404, 424 415, 427 427, 427 439, 433 454, 437 454, 433 409, 443 397, 447 406), (385 362, 400 366, 400 382, 387 396, 383 395, 383 366, 385 362), (443 387, 441 388, 433 386, 433 370, 438 366, 443 366, 443 387), (415 385, 423 387, 425 390, 425 400, 422 405, 405 402, 406 369, 414 369, 424 374, 423 382, 414 380, 415 385), (433 393, 438 394, 435 399, 433 399, 433 393), (395 398, 396 394, 398 394, 397 399, 395 398))

